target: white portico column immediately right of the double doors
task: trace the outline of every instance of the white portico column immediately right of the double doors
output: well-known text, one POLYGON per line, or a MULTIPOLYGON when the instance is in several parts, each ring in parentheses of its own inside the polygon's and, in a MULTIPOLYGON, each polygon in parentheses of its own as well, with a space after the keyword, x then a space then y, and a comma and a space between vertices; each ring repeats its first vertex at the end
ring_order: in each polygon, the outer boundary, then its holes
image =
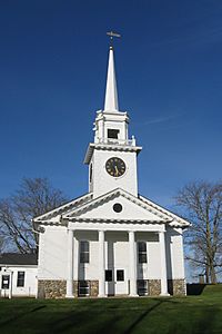
POLYGON ((135 236, 133 230, 129 230, 129 246, 130 246, 130 296, 138 296, 137 287, 137 248, 135 248, 135 236))

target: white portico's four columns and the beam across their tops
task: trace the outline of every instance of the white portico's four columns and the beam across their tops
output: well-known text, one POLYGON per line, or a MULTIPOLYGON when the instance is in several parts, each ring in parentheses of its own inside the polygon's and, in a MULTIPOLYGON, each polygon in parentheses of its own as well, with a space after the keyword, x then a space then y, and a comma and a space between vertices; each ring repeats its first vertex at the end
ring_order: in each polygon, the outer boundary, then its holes
MULTIPOLYGON (((87 224, 87 223, 85 223, 87 224)), ((138 296, 138 247, 137 243, 139 238, 137 238, 137 234, 140 234, 140 237, 142 233, 148 234, 151 233, 155 236, 158 236, 159 239, 159 249, 160 249, 160 264, 161 264, 161 295, 169 295, 168 293, 168 282, 167 282, 167 263, 165 263, 165 228, 164 225, 158 225, 158 226, 139 226, 137 229, 137 224, 132 224, 132 226, 128 226, 128 228, 131 227, 128 232, 125 232, 124 226, 119 227, 118 229, 113 229, 113 226, 110 226, 109 224, 101 224, 99 227, 83 227, 81 223, 81 227, 74 226, 75 224, 70 223, 68 228, 68 255, 67 255, 67 265, 68 265, 68 276, 67 276, 67 297, 71 298, 74 297, 73 293, 73 281, 79 281, 79 239, 77 238, 78 232, 84 235, 84 232, 93 232, 98 235, 98 265, 99 265, 99 291, 98 291, 98 297, 107 297, 109 295, 108 288, 105 287, 105 269, 108 269, 108 257, 110 256, 109 249, 108 249, 108 242, 109 242, 109 232, 117 234, 127 234, 128 235, 128 264, 127 268, 123 267, 123 276, 124 281, 127 281, 127 288, 122 289, 122 295, 129 295, 129 296, 138 296), (80 228, 80 229, 79 229, 80 228), (108 236, 108 237, 107 237, 108 236), (75 250, 75 252, 74 252, 75 250)), ((115 264, 112 264, 112 267, 115 267, 115 264)), ((147 278, 147 277, 145 277, 147 278)), ((90 277, 84 277, 84 279, 89 279, 90 277)), ((115 283, 117 284, 117 283, 115 283)), ((118 295, 114 291, 114 295, 118 295)))

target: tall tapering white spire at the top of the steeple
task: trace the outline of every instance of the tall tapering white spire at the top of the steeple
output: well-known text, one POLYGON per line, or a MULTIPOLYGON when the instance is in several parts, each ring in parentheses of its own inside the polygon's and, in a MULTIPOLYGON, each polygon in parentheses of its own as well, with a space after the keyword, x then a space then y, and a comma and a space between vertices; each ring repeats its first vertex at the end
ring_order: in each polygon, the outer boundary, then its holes
POLYGON ((104 98, 104 111, 118 111, 118 90, 114 71, 114 55, 113 47, 110 47, 109 65, 108 65, 108 77, 107 77, 107 89, 104 98))

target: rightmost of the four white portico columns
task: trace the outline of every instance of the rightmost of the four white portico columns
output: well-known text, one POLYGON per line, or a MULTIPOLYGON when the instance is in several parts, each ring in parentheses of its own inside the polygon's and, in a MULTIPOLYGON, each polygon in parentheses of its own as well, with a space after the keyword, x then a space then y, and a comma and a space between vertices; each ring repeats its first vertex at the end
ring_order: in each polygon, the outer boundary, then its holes
POLYGON ((161 296, 169 296, 165 259, 165 232, 159 232, 159 242, 161 257, 161 296))

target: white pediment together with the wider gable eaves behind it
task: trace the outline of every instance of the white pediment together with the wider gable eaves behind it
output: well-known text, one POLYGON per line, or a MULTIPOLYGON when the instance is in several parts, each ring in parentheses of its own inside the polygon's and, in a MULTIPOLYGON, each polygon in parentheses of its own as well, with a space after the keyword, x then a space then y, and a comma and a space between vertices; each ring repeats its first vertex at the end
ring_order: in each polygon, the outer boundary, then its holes
POLYGON ((171 226, 188 227, 189 222, 159 206, 150 199, 134 197, 118 188, 93 198, 91 193, 78 197, 42 216, 36 217, 36 224, 65 225, 67 220, 90 222, 144 222, 168 223, 171 226), (120 204, 122 210, 115 213, 114 204, 120 204))

